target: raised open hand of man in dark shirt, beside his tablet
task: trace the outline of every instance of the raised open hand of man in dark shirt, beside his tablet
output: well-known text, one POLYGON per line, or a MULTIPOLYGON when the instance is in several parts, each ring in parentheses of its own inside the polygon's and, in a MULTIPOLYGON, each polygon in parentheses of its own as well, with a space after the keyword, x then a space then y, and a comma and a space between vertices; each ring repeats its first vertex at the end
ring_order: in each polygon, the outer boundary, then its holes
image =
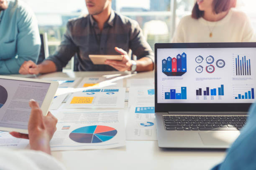
POLYGON ((123 55, 123 60, 122 61, 117 61, 117 60, 106 60, 105 64, 110 65, 114 67, 118 71, 125 71, 131 70, 132 62, 127 54, 127 52, 121 48, 115 47, 116 52, 120 53, 123 55))

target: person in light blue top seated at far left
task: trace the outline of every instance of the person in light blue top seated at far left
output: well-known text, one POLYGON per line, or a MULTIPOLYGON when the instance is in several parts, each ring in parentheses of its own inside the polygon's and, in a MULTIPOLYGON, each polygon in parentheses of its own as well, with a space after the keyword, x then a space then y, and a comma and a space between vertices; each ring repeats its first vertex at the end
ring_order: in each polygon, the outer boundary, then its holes
POLYGON ((36 62, 40 47, 32 10, 21 0, 0 0, 0 75, 18 74, 24 61, 36 62))

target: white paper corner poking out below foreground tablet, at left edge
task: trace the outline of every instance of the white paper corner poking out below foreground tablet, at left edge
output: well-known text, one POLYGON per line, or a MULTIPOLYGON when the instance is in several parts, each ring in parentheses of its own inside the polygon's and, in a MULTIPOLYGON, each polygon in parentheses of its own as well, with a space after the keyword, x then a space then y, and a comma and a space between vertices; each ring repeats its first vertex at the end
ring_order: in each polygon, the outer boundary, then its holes
POLYGON ((0 148, 25 149, 29 140, 14 138, 9 132, 0 131, 0 148))

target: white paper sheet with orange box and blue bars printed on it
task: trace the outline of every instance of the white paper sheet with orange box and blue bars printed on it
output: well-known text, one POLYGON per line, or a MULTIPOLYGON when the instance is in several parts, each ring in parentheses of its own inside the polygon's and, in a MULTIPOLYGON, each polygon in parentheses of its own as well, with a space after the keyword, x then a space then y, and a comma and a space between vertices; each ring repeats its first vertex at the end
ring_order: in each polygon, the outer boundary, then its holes
POLYGON ((123 108, 125 88, 97 88, 74 92, 65 108, 123 108))

